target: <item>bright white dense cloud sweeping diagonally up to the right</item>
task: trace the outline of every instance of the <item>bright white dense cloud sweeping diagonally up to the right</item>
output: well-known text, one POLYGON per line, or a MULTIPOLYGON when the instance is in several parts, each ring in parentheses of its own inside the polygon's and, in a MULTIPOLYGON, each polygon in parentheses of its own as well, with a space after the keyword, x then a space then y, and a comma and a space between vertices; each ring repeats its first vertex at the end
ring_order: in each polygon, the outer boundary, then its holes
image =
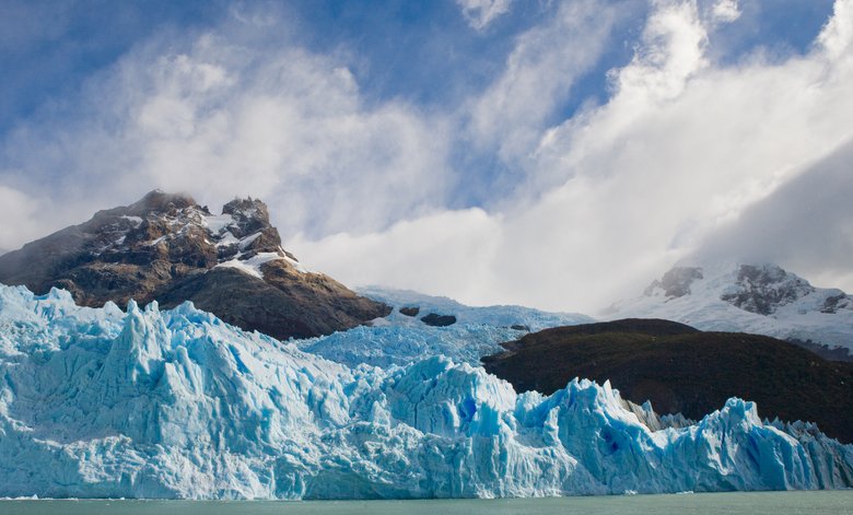
MULTIPOLYGON (((612 98, 538 132, 541 144, 527 173, 563 177, 561 186, 513 198, 500 215, 469 229, 490 242, 491 259, 471 253, 466 260, 463 253, 454 270, 487 278, 476 292, 437 284, 440 267, 385 282, 468 302, 594 311, 636 294, 716 227, 853 138, 853 72, 845 59, 817 48, 779 63, 714 68, 705 59, 713 42, 703 23, 694 2, 656 2, 635 58, 612 72, 612 98)), ((825 33, 840 25, 833 21, 825 33)), ((503 129, 499 124, 492 133, 503 129)), ((846 187, 853 196, 853 185, 846 187)), ((397 248, 395 238, 371 238, 376 248, 397 248)), ((418 255, 442 249, 421 247, 418 255)), ((312 259, 323 254, 323 245, 308 253, 312 259)), ((340 274, 370 283, 390 277, 340 274)))

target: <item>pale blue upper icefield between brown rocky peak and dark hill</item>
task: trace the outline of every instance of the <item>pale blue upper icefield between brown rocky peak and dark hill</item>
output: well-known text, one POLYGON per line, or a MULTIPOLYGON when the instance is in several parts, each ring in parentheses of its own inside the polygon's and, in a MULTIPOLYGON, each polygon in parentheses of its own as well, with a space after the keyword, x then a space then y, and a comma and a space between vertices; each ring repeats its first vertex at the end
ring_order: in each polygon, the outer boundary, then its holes
POLYGON ((373 320, 373 327, 357 327, 294 343, 306 352, 349 366, 361 363, 382 367, 408 365, 432 355, 445 355, 456 363, 478 366, 480 358, 502 352, 501 343, 517 340, 529 331, 593 321, 585 315, 547 313, 522 306, 471 307, 447 297, 378 286, 357 291, 393 306, 393 312, 373 320), (423 323, 422 318, 430 314, 447 317, 453 323, 443 327, 423 323))

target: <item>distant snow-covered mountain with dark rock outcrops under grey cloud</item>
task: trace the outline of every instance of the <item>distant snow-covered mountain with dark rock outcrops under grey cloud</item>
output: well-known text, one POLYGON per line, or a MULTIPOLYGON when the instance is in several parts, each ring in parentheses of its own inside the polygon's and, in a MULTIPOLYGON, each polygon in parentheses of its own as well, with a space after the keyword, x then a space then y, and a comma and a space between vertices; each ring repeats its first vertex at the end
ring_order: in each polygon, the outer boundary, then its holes
POLYGON ((853 350, 853 297, 815 288, 775 265, 673 268, 642 296, 605 313, 607 319, 629 317, 853 350))

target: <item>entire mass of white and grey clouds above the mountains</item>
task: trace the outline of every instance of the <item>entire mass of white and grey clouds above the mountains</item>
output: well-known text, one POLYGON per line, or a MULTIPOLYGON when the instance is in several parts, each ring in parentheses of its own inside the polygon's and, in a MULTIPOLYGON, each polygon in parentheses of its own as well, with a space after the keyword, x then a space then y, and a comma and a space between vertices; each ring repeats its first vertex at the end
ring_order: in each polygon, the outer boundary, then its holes
MULTIPOLYGON (((512 15, 509 2, 459 5, 477 30, 512 15)), ((853 234, 830 223, 848 210, 794 223, 797 206, 853 195, 840 157, 853 1, 837 0, 805 52, 734 62, 716 60, 715 37, 740 23, 735 1, 542 9, 490 84, 437 108, 372 97, 358 56, 314 51, 281 17, 160 35, 93 77, 79 106, 5 136, 0 216, 13 229, 0 247, 162 187, 211 206, 265 199, 285 246, 346 283, 475 304, 595 312, 696 253, 756 255, 741 243, 768 233, 764 259, 853 290, 841 265, 853 234), (615 39, 632 58, 607 71, 606 100, 561 116, 615 39), (459 206, 490 180, 486 201, 459 206), (831 250, 814 251, 821 237, 831 250)))

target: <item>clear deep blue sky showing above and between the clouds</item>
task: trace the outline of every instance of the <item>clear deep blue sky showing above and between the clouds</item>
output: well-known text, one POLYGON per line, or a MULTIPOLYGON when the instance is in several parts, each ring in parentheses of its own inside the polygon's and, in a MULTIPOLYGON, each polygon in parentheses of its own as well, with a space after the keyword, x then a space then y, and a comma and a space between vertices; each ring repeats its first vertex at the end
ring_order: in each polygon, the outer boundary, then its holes
MULTIPOLYGON (((832 0, 741 2, 751 20, 726 26, 725 55, 732 62, 757 47, 788 54, 805 51, 832 9, 832 0)), ((73 97, 82 83, 108 68, 135 44, 164 31, 215 27, 239 2, 225 1, 13 1, 2 5, 2 82, 0 113, 8 130, 46 103, 73 97)), ((471 30, 452 0, 409 2, 293 1, 243 2, 243 9, 268 9, 293 20, 300 44, 317 52, 341 46, 355 54, 359 84, 376 102, 389 96, 426 105, 453 103, 482 89, 498 75, 513 49, 513 37, 540 23, 553 2, 516 2, 513 11, 483 31, 471 30)), ((612 35, 599 67, 581 91, 566 98, 568 116, 585 96, 606 95, 604 72, 632 57, 632 38, 647 13, 644 2, 624 2, 631 15, 612 35)), ((746 14, 741 14, 746 17, 746 14)), ((274 35, 270 40, 274 40, 274 35)))

